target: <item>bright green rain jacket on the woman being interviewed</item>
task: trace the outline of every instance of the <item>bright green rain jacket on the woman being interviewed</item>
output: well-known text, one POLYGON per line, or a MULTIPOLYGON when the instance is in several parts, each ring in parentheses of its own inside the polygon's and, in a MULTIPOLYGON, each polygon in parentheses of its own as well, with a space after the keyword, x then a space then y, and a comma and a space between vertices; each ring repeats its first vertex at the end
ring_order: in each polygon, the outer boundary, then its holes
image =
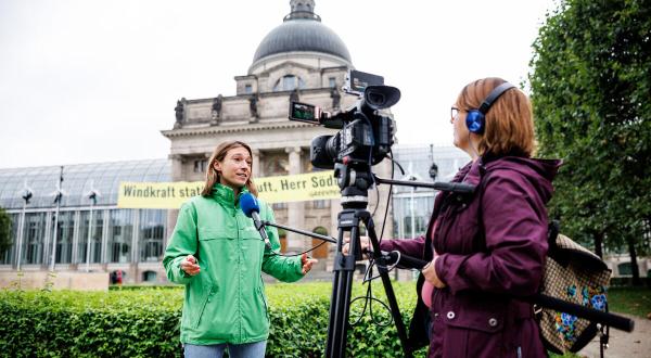
MULTIPOLYGON (((275 221, 263 202, 259 215, 275 221)), ((278 231, 267 227, 267 234, 278 252, 278 231)), ((196 345, 267 340, 269 314, 260 271, 284 282, 303 278, 301 257, 267 250, 240 208, 239 196, 235 203, 233 190, 222 184, 213 188, 212 196, 194 196, 181 206, 163 265, 169 281, 186 285, 181 342, 196 345), (188 255, 199 261, 196 276, 180 268, 188 255)))

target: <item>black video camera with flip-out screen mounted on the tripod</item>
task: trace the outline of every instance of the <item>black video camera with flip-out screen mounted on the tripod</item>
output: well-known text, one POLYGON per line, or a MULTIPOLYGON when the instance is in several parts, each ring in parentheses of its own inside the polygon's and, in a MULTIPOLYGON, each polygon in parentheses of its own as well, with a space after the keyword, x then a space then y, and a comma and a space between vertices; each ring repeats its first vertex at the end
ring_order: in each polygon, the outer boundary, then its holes
POLYGON ((341 129, 334 136, 312 139, 309 157, 321 169, 332 169, 335 163, 352 166, 375 165, 388 154, 394 143, 395 123, 382 110, 400 100, 400 90, 384 86, 384 78, 350 69, 343 88, 359 100, 349 108, 329 113, 308 103, 291 102, 290 120, 341 129))

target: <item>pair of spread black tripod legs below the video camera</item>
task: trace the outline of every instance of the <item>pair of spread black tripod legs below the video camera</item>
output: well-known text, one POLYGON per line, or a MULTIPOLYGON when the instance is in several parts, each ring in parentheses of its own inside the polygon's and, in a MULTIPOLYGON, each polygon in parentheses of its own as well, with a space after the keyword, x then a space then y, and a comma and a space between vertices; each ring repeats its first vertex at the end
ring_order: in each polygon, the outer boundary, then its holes
POLYGON ((396 296, 388 278, 386 259, 380 251, 380 243, 375 234, 375 228, 371 214, 366 209, 345 208, 339 214, 339 240, 336 241, 336 254, 334 258, 334 278, 332 282, 332 297, 330 301, 330 323, 328 324, 328 343, 326 357, 344 357, 346 348, 346 332, 348 329, 348 317, 350 314, 350 293, 353 285, 353 273, 355 261, 361 259, 361 244, 359 241, 359 221, 363 222, 373 247, 373 258, 378 263, 378 270, 382 278, 384 292, 391 308, 391 314, 398 331, 398 337, 403 345, 406 357, 412 357, 411 349, 407 343, 407 330, 403 322, 403 316, 398 309, 396 296), (344 232, 350 232, 350 251, 346 256, 342 253, 344 232))

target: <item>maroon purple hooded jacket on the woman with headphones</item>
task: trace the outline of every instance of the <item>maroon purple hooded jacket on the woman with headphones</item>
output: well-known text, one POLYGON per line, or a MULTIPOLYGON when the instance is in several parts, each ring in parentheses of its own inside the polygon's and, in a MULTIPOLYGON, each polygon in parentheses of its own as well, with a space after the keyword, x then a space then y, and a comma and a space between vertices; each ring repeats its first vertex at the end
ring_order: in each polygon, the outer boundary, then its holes
POLYGON ((532 306, 511 297, 538 291, 547 255, 545 205, 559 166, 516 156, 470 163, 452 181, 477 186, 472 196, 442 193, 426 236, 381 243, 383 251, 427 260, 432 248, 438 254, 436 273, 447 286, 432 293, 429 357, 546 356, 532 306))

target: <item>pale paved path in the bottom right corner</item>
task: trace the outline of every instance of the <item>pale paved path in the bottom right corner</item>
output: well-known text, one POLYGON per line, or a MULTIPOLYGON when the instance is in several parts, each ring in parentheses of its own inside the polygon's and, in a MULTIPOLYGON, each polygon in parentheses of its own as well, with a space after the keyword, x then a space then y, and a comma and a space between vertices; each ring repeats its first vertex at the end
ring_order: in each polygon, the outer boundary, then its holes
MULTIPOLYGON (((622 315, 635 321, 631 333, 610 330, 610 344, 603 356, 607 358, 651 358, 651 319, 622 315)), ((599 337, 595 337, 579 353, 582 357, 599 357, 599 337)))

